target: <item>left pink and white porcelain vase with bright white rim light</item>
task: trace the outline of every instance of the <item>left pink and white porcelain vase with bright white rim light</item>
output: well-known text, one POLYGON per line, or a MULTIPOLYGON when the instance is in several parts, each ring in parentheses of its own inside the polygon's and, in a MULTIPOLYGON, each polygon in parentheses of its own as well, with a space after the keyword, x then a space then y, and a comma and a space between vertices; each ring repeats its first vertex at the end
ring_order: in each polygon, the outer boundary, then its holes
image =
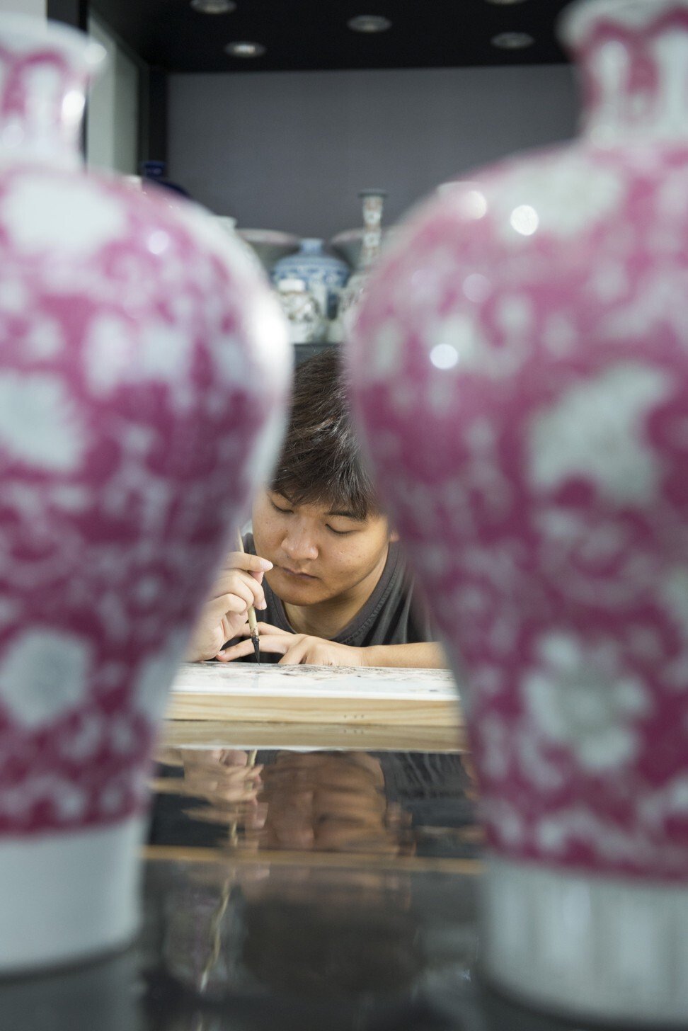
POLYGON ((0 18, 0 971, 135 932, 153 735, 290 372, 208 215, 80 170, 102 53, 0 18))

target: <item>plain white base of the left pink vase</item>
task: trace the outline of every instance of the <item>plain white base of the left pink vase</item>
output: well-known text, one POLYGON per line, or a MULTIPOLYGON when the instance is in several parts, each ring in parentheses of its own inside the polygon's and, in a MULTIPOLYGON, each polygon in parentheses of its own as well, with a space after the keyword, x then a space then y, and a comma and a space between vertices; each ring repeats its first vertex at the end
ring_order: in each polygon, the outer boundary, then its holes
POLYGON ((0 839, 0 974, 95 959, 139 924, 146 821, 0 839))

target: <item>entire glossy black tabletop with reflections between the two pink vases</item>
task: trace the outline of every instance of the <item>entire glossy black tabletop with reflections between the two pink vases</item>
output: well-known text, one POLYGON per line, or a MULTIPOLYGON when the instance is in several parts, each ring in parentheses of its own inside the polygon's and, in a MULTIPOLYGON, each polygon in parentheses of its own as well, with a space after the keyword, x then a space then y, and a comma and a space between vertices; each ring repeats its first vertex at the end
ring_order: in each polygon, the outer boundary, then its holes
POLYGON ((574 1027, 480 983, 481 842, 458 751, 175 746, 157 759, 138 940, 0 980, 2 1029, 574 1027))

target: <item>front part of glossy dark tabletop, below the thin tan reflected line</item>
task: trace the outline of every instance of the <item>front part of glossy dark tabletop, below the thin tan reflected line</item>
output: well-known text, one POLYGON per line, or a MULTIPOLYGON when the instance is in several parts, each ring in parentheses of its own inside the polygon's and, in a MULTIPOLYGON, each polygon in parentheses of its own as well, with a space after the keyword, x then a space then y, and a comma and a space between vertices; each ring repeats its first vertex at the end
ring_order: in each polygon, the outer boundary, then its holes
POLYGON ((144 926, 126 952, 0 980, 2 1028, 586 1031, 481 985, 475 874, 197 852, 147 861, 144 926))

